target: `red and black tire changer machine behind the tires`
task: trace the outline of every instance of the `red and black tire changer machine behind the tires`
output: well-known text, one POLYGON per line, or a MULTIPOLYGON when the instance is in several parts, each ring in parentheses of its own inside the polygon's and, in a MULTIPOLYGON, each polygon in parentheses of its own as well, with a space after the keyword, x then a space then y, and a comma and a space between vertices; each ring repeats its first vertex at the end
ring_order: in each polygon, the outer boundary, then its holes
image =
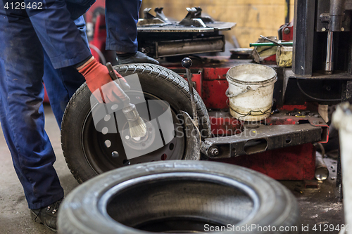
MULTIPOLYGON (((328 141, 328 107, 352 100, 352 0, 296 0, 294 7, 293 24, 279 29, 279 39, 293 40, 293 65, 269 65, 277 72, 272 112, 256 124, 232 117, 225 95, 230 67, 252 60, 214 56, 225 51, 220 31, 235 23, 203 17, 201 8, 187 8, 180 22, 168 20, 163 8, 156 8, 155 16, 151 8, 144 10, 138 24, 139 51, 165 58, 161 65, 185 79, 180 60, 193 56, 189 82, 208 109, 213 134, 199 142, 201 157, 249 167, 278 180, 313 180, 313 143, 328 141)), ((91 44, 101 48, 104 20, 97 18, 96 24, 91 44)), ((187 141, 195 144, 194 139, 187 141)))

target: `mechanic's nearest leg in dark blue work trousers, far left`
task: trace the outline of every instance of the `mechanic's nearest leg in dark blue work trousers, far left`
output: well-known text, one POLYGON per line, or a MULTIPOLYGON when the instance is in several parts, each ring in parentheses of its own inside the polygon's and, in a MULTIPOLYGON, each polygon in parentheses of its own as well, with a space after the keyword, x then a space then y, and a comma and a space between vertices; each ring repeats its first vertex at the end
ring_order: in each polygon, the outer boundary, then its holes
POLYGON ((43 51, 29 18, 8 22, 0 1, 0 122, 30 209, 63 197, 44 131, 43 51))

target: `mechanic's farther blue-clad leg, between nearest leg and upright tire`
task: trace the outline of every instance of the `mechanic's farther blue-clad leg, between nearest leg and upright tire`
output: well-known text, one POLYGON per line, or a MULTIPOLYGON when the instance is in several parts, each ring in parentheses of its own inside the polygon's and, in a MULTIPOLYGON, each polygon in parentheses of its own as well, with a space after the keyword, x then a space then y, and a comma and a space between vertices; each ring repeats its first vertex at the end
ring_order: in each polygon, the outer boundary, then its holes
MULTIPOLYGON (((88 40, 86 34, 86 25, 83 16, 75 20, 75 25, 80 30, 82 39, 88 40)), ((63 112, 65 112, 68 101, 73 93, 84 83, 84 77, 75 67, 63 67, 54 69, 49 56, 44 51, 44 84, 48 93, 51 109, 54 112, 58 126, 61 126, 63 112)))

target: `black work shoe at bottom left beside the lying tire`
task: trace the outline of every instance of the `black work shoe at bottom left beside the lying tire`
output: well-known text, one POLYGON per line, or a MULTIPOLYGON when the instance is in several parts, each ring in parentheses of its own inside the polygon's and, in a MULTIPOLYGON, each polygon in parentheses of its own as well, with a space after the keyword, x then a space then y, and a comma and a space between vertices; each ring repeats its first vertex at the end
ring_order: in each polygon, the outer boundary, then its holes
POLYGON ((31 209, 30 214, 32 219, 37 223, 44 224, 46 228, 49 228, 56 233, 56 218, 61 201, 62 199, 40 209, 31 209))

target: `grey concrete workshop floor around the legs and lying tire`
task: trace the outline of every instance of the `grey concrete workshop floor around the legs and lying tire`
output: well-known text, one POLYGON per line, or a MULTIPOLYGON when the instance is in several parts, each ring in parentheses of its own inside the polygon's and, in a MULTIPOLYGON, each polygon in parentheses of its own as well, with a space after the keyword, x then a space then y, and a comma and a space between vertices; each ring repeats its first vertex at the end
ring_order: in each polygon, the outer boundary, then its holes
MULTIPOLYGON (((45 107, 45 114, 46 132, 57 157, 54 167, 67 195, 78 186, 78 183, 65 164, 61 151, 60 131, 49 106, 45 107)), ((334 186, 335 181, 331 179, 336 176, 333 170, 336 169, 337 164, 335 160, 325 161, 331 176, 327 181, 318 183, 318 188, 305 188, 303 181, 282 181, 282 184, 287 186, 298 199, 302 225, 309 226, 309 230, 303 233, 338 233, 337 230, 323 231, 324 225, 333 224, 336 227, 343 223, 342 203, 337 198, 339 194, 334 186), (313 230, 314 225, 319 228, 320 224, 322 231, 313 230)), ((0 234, 51 233, 30 218, 30 210, 27 208, 23 188, 13 169, 11 155, 2 134, 0 135, 0 162, 0 234)))

